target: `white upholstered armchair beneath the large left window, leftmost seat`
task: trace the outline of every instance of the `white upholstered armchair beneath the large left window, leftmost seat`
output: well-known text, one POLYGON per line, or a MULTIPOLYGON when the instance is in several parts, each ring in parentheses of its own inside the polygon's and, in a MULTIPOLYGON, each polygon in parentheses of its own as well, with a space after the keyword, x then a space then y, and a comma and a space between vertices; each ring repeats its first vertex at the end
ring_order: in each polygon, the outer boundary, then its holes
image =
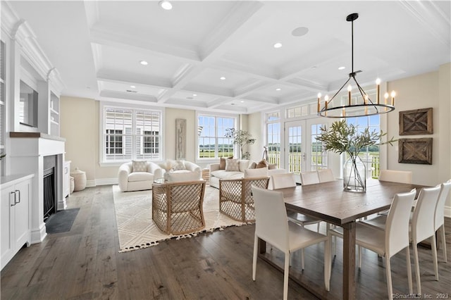
POLYGON ((163 169, 150 161, 130 161, 119 167, 118 183, 122 192, 152 189, 154 179, 163 177, 163 169))

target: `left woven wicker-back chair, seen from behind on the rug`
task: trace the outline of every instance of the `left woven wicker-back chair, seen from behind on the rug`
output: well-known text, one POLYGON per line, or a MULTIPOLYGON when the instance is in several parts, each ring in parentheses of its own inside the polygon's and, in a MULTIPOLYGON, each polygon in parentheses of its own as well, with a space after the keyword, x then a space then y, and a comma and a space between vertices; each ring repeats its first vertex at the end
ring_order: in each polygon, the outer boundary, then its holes
POLYGON ((205 227, 204 180, 154 184, 152 220, 166 235, 184 235, 205 227))

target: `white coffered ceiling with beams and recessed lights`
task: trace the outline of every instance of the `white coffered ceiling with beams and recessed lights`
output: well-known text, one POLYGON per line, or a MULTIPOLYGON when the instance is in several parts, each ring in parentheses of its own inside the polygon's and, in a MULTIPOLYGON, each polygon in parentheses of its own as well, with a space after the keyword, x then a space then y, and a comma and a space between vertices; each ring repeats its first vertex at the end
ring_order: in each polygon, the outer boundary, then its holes
POLYGON ((314 101, 351 72, 350 13, 359 13, 361 85, 451 61, 450 1, 171 3, 10 1, 61 74, 62 94, 100 101, 228 113, 314 101))

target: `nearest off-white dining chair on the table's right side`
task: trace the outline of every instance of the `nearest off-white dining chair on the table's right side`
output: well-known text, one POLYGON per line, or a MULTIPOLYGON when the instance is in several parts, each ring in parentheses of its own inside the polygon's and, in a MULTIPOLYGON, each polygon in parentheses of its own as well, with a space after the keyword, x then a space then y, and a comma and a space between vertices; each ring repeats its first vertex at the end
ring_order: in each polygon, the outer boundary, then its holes
MULTIPOLYGON (((416 190, 395 194, 388 212, 385 230, 356 223, 356 244, 376 252, 385 257, 385 276, 387 277, 388 298, 393 299, 393 285, 390 268, 390 258, 405 249, 407 265, 407 281, 409 294, 412 294, 412 268, 410 265, 409 251, 409 217, 414 203, 416 190)), ((336 227, 329 232, 329 238, 333 235, 342 237, 342 227, 336 227)))

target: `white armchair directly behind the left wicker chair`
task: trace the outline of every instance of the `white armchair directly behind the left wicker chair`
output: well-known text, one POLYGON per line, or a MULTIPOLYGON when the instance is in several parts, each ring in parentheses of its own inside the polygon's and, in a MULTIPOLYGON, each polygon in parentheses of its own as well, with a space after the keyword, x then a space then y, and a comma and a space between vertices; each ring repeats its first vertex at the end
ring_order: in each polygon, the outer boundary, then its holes
POLYGON ((202 180, 202 168, 190 161, 165 161, 159 166, 163 168, 163 177, 168 182, 202 180))

